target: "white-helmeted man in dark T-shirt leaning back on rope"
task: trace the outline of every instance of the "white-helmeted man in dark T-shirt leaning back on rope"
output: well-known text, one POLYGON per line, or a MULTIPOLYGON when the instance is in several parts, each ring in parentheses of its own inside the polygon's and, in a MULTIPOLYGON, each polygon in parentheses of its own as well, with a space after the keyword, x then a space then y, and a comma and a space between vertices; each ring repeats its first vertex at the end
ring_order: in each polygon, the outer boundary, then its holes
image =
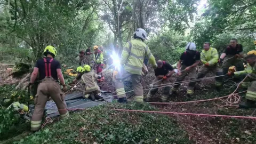
MULTIPOLYGON (((188 75, 190 81, 195 81, 197 78, 196 66, 200 62, 201 54, 196 51, 195 43, 188 43, 186 46, 186 51, 180 56, 178 62, 178 75, 174 86, 171 89, 171 95, 177 94, 177 90, 180 86, 180 82, 188 75)), ((187 97, 191 98, 194 93, 196 82, 190 82, 187 89, 187 97)))

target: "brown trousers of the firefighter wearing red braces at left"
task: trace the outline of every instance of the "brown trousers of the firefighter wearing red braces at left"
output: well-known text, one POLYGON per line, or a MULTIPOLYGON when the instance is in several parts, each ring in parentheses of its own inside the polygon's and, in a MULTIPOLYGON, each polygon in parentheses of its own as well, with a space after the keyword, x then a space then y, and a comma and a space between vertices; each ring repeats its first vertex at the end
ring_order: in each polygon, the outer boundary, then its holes
POLYGON ((69 116, 64 99, 65 95, 61 91, 60 85, 55 82, 52 77, 45 77, 44 80, 39 83, 34 99, 35 110, 31 118, 31 131, 37 131, 41 128, 44 107, 49 97, 56 103, 61 118, 67 118, 69 116))

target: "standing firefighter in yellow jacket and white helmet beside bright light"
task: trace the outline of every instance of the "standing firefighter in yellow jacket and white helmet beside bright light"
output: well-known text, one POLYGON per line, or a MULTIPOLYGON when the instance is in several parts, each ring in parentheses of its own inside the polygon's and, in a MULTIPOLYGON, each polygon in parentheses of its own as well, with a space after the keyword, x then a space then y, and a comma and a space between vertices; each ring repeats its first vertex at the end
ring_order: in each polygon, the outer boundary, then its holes
POLYGON ((143 101, 143 90, 141 85, 141 72, 143 60, 145 57, 153 68, 157 68, 156 60, 151 54, 148 46, 143 42, 147 37, 144 29, 138 28, 134 32, 134 39, 125 44, 121 54, 121 70, 115 76, 115 88, 118 97, 118 102, 125 103, 126 94, 124 91, 123 80, 130 77, 132 79, 133 90, 136 96, 136 101, 143 101))

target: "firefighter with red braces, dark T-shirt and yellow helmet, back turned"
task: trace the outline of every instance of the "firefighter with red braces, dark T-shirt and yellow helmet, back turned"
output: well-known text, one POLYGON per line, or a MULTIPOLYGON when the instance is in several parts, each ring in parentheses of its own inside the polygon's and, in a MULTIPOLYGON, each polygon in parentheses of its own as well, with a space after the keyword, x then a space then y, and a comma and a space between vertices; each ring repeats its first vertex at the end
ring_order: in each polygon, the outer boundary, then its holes
POLYGON ((46 46, 44 49, 45 58, 36 61, 34 71, 31 74, 30 86, 34 84, 37 74, 39 73, 39 85, 34 99, 35 110, 31 118, 31 131, 37 131, 41 128, 44 107, 49 97, 56 103, 60 117, 67 118, 69 116, 64 100, 64 93, 61 91, 60 85, 57 83, 58 78, 63 91, 67 91, 63 75, 61 73, 60 62, 55 60, 57 51, 53 46, 46 46))

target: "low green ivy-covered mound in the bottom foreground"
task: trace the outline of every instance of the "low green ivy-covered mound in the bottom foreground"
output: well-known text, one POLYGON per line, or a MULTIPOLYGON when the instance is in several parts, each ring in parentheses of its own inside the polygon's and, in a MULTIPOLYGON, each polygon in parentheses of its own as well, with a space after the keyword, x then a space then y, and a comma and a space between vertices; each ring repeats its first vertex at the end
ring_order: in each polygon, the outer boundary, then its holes
POLYGON ((110 108, 156 110, 146 103, 109 103, 75 113, 14 143, 190 143, 168 116, 110 108))

